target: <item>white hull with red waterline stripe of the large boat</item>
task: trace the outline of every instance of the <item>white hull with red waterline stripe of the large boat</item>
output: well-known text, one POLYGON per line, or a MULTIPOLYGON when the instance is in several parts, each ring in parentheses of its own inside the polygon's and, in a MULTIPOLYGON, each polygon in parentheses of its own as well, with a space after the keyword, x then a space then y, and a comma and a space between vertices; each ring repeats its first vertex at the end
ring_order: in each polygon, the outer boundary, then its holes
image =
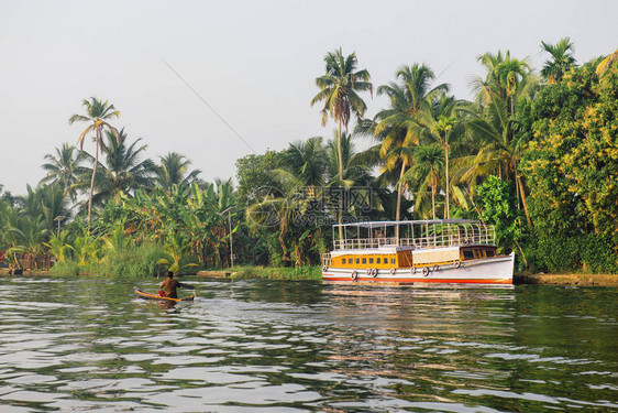
POLYGON ((366 269, 327 268, 327 281, 377 283, 474 283, 512 284, 515 252, 509 256, 464 261, 461 264, 424 267, 417 269, 377 270, 375 275, 366 269))

